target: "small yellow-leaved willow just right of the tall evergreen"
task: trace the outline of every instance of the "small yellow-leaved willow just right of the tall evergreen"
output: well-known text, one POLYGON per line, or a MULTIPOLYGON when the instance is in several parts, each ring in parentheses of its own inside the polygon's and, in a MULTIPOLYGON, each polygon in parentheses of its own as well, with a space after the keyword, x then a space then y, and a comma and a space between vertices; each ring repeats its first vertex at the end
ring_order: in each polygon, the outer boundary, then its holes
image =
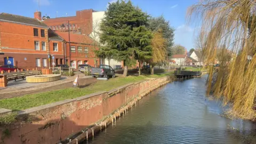
POLYGON ((153 34, 153 39, 151 41, 152 45, 152 59, 150 60, 150 74, 154 75, 154 66, 157 63, 163 62, 166 59, 167 50, 166 50, 167 40, 163 37, 163 31, 158 30, 153 34))

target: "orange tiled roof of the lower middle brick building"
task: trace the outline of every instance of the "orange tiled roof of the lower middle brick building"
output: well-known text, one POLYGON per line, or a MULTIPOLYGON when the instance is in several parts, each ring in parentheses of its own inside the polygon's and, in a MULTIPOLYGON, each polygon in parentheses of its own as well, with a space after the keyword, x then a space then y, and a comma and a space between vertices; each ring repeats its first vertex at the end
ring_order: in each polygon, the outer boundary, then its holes
MULTIPOLYGON (((67 32, 61 32, 61 31, 54 31, 54 32, 58 34, 61 38, 63 38, 66 42, 69 41, 67 32)), ((93 41, 89 36, 81 35, 81 34, 70 34, 70 42, 82 43, 82 44, 93 44, 93 41)))

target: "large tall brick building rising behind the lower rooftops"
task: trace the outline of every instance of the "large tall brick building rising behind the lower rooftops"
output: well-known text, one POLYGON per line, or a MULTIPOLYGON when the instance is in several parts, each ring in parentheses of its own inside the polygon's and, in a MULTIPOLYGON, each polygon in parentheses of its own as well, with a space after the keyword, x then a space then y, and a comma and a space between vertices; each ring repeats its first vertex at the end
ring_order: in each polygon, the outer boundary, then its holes
POLYGON ((44 23, 49 26, 50 29, 56 31, 68 31, 68 25, 62 27, 63 23, 69 21, 70 31, 73 34, 86 34, 92 33, 92 13, 94 10, 82 10, 76 11, 76 16, 72 17, 60 17, 45 19, 44 23))

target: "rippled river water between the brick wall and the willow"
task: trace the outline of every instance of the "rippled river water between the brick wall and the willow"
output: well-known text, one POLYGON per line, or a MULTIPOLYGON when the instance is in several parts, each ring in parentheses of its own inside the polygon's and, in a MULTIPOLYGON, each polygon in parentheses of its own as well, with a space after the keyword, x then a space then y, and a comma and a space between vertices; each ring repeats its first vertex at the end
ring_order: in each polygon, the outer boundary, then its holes
POLYGON ((220 116, 220 102, 205 97, 206 78, 173 82, 150 93, 84 143, 243 143, 230 126, 245 133, 254 124, 220 116))

